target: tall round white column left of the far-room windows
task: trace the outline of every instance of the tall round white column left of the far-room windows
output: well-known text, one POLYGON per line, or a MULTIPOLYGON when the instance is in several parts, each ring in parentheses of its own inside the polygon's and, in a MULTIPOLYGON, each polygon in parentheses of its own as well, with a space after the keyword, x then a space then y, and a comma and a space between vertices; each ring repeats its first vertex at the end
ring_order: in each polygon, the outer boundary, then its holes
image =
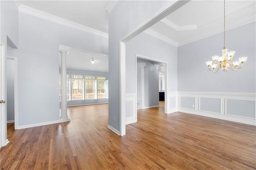
POLYGON ((68 51, 60 50, 61 53, 61 116, 60 121, 70 121, 67 113, 67 66, 66 55, 68 51))

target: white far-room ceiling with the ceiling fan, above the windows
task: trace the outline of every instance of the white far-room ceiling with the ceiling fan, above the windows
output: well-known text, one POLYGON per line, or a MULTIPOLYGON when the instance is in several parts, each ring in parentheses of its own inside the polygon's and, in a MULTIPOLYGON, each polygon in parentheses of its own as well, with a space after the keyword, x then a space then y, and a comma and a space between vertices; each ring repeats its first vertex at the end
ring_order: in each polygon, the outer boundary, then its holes
MULTIPOLYGON (((90 63, 92 53, 82 52, 76 50, 68 50, 66 57, 67 68, 70 69, 81 69, 90 71, 102 71, 108 72, 108 57, 107 55, 95 54, 94 59, 100 60, 99 63, 90 63)), ((59 67, 61 67, 61 57, 59 56, 59 67)))

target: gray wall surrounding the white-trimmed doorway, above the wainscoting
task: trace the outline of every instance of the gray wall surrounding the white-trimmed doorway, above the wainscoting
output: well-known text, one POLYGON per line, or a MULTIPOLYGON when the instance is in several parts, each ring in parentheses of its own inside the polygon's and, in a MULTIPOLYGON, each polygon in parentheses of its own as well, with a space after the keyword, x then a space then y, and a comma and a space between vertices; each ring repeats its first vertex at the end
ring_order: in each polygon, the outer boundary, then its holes
POLYGON ((141 33, 126 43, 126 93, 136 92, 135 54, 168 62, 169 87, 165 90, 177 91, 177 47, 141 33))

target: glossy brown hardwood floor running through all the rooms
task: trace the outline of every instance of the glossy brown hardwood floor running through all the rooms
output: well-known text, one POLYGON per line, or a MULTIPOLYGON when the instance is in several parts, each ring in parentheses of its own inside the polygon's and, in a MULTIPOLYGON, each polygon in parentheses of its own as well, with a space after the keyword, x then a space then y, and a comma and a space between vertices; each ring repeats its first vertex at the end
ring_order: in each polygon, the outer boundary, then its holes
POLYGON ((256 169, 256 127, 160 107, 138 110, 118 136, 108 104, 68 108, 69 123, 14 130, 1 169, 256 169))

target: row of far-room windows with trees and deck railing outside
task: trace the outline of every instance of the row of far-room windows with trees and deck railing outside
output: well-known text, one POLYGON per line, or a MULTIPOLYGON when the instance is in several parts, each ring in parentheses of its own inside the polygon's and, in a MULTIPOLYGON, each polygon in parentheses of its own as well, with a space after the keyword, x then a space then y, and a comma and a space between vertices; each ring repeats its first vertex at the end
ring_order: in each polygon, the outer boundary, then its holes
MULTIPOLYGON (((61 74, 59 76, 59 86, 61 100, 61 74)), ((108 83, 106 83, 106 77, 87 75, 67 75, 68 101, 84 99, 105 99, 108 98, 107 91, 108 83)))

